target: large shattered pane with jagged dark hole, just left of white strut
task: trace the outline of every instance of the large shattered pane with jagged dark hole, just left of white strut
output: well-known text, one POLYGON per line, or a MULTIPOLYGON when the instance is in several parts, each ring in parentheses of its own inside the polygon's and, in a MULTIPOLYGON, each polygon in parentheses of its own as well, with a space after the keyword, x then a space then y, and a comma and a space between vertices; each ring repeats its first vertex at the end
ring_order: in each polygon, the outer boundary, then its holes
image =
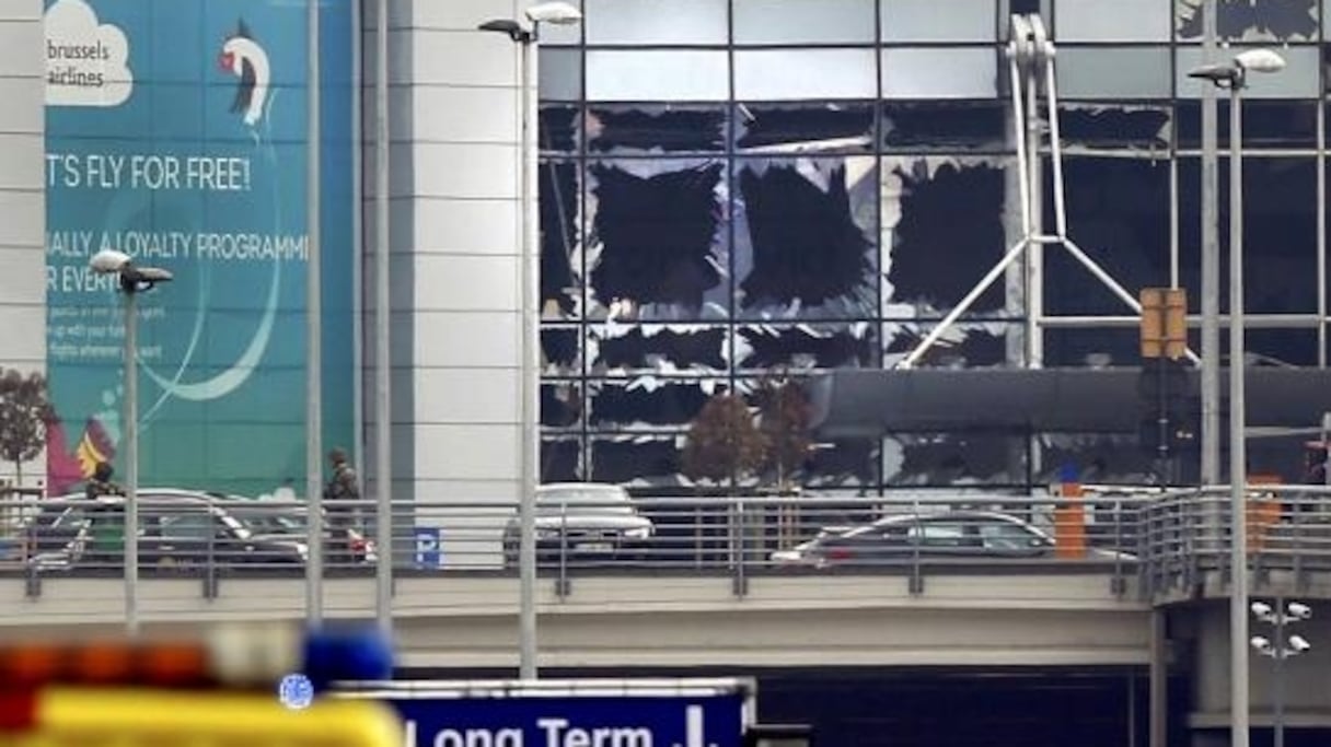
MULTIPOLYGON (((1006 251, 1005 160, 882 160, 882 315, 938 319, 1006 251)), ((993 318, 1004 284, 990 284, 968 311, 993 318)))

